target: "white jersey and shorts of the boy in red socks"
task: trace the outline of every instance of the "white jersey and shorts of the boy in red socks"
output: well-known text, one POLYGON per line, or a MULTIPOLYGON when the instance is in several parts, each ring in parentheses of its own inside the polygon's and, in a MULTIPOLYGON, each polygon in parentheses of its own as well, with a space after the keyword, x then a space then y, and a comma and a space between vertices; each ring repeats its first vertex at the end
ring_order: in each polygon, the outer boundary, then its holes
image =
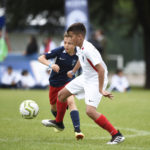
POLYGON ((108 82, 107 67, 98 50, 86 40, 82 48, 77 47, 77 55, 82 67, 82 75, 69 82, 66 88, 78 99, 84 98, 87 105, 98 107, 102 94, 99 92, 98 73, 95 65, 101 64, 105 70, 103 90, 108 82))

